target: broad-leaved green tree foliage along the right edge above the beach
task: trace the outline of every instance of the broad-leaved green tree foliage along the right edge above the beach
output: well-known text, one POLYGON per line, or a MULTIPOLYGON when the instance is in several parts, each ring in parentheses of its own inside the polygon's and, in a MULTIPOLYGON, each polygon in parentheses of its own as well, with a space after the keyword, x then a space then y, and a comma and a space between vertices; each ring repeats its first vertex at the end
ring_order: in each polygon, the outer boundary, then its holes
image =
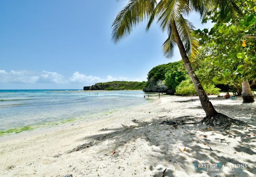
POLYGON ((218 11, 210 12, 206 20, 215 22, 213 28, 210 31, 196 30, 192 35, 200 39, 204 46, 210 47, 205 60, 221 68, 213 81, 232 83, 237 92, 241 92, 243 81, 250 81, 251 86, 256 81, 256 5, 254 0, 238 1, 237 5, 245 15, 241 20, 223 22, 219 20, 218 11))

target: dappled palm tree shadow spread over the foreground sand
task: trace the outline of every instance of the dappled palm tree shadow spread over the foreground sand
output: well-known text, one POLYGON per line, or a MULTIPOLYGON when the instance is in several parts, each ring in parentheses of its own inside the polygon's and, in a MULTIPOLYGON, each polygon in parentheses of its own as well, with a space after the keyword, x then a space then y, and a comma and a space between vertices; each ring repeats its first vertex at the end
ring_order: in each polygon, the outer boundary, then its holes
MULTIPOLYGON (((226 112, 232 106, 215 105, 220 112, 226 112)), ((197 109, 197 108, 195 108, 197 109)), ((245 109, 243 106, 238 109, 245 109)), ((231 109, 230 109, 231 110, 231 109)), ((230 112, 231 113, 231 112, 230 112)), ((226 112, 229 114, 229 112, 226 112)), ((232 112, 236 118, 243 115, 232 112)), ((250 176, 256 174, 255 152, 256 147, 252 144, 256 139, 255 125, 256 112, 249 112, 249 117, 245 120, 250 127, 232 127, 230 131, 222 129, 207 129, 201 124, 190 124, 191 121, 200 122, 202 117, 171 117, 163 116, 155 118, 150 122, 144 122, 134 119, 132 125, 122 125, 119 128, 101 129, 98 135, 85 136, 77 141, 84 142, 82 146, 75 147, 69 153, 74 151, 87 151, 94 146, 109 146, 107 150, 115 150, 112 155, 109 151, 98 153, 102 160, 108 160, 110 163, 117 164, 117 161, 125 161, 129 158, 137 157, 143 153, 143 159, 139 164, 143 169, 141 176, 148 174, 156 177, 182 176, 250 176), (163 124, 168 119, 175 122, 175 125, 163 124), (162 124, 161 124, 162 123, 162 124), (180 124, 184 125, 180 125, 180 124), (202 131, 203 129, 203 131, 202 131), (213 138, 212 135, 217 135, 213 138), (217 137, 217 138, 216 138, 217 137), (234 147, 230 145, 234 142, 238 144, 234 147), (132 142, 132 143, 131 143, 132 142), (143 147, 142 147, 142 146, 143 147), (221 146, 220 146, 221 145, 221 146), (225 147, 230 153, 223 153, 225 147), (186 148, 186 149, 184 149, 186 148), (252 157, 254 155, 254 157, 252 157), (250 157, 250 158, 249 158, 250 157), (253 160, 254 159, 254 160, 253 160), (195 170, 195 163, 198 164, 249 164, 249 168, 244 171, 236 169, 233 172, 208 172, 204 170, 195 170), (148 164, 149 167, 145 166, 148 164), (144 166, 143 166, 144 165, 144 166), (179 173, 177 173, 179 171, 179 173), (249 171, 249 172, 248 172, 249 171)), ((119 163, 119 162, 118 162, 119 163)), ((127 163, 128 164, 128 163, 127 163)), ((137 164, 138 165, 138 164, 137 164)), ((120 167, 120 166, 119 166, 120 167)), ((125 168, 125 167, 124 167, 125 168)), ((117 169, 117 175, 128 175, 124 169, 117 169), (118 171, 119 170, 119 171, 118 171)))

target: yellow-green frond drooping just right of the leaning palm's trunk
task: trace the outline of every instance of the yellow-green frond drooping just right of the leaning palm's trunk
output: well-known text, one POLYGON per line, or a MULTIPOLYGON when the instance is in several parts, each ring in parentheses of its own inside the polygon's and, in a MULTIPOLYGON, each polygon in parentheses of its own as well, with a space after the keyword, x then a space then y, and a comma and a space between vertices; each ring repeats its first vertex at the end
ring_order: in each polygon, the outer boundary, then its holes
POLYGON ((191 32, 194 31, 193 24, 180 15, 176 20, 176 26, 187 56, 190 59, 195 58, 198 54, 199 42, 195 37, 191 36, 191 32))

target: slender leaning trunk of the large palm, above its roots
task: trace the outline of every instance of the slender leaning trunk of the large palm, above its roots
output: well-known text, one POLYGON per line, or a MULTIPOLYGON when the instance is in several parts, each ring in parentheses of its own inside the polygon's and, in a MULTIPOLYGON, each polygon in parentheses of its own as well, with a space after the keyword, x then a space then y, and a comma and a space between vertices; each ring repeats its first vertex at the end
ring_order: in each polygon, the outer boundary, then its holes
POLYGON ((184 45, 183 45, 183 43, 180 39, 180 35, 178 33, 175 21, 171 22, 171 29, 172 29, 174 39, 175 39, 175 41, 178 45, 178 48, 180 50, 180 55, 182 57, 182 60, 183 60, 183 63, 185 65, 185 68, 187 70, 187 73, 188 73, 190 79, 192 80, 192 82, 195 86, 195 89, 197 90, 197 94, 199 96, 202 108, 204 109, 204 112, 206 113, 206 116, 213 116, 213 115, 218 114, 218 112, 215 111, 213 105, 209 101, 209 98, 208 98, 206 92, 204 91, 199 79, 195 75, 195 72, 194 72, 194 70, 191 66, 191 63, 190 63, 189 58, 187 56, 184 45))

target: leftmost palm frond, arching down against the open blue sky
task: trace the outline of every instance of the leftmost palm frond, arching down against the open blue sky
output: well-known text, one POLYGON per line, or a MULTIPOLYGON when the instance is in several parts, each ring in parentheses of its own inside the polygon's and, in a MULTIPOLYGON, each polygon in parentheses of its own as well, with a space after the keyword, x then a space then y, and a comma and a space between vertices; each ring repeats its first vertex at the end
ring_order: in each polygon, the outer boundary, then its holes
POLYGON ((112 40, 117 43, 127 37, 141 21, 150 17, 156 0, 130 0, 112 23, 112 40))

